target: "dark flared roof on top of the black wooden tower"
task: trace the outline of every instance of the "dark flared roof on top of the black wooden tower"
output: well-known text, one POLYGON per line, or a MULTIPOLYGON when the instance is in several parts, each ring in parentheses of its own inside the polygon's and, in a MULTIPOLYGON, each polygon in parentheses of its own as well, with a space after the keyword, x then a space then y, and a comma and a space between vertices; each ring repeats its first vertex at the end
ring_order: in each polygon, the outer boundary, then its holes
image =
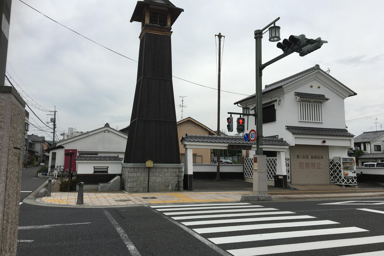
POLYGON ((166 8, 166 10, 169 10, 170 25, 172 25, 174 21, 177 19, 178 15, 180 15, 180 13, 184 11, 183 9, 174 6, 174 4, 168 0, 137 1, 136 7, 134 8, 133 14, 130 18, 130 22, 133 22, 133 21, 141 22, 141 16, 143 15, 145 7, 150 5, 166 8))

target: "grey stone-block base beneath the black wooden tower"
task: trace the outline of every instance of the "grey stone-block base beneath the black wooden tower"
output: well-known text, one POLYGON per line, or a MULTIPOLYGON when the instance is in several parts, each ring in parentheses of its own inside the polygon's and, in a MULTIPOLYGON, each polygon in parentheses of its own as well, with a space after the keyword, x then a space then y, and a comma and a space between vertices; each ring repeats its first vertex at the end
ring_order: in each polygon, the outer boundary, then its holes
POLYGON ((183 166, 183 163, 154 163, 153 167, 145 167, 145 163, 122 163, 121 188, 129 193, 182 191, 183 166))

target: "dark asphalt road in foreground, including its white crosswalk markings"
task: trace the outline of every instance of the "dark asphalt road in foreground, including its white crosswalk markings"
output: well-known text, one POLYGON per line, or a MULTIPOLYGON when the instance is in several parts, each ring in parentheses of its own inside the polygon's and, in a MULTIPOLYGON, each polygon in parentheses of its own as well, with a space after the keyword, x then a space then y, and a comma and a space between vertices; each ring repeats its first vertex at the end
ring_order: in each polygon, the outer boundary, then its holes
POLYGON ((384 198, 171 206, 76 208, 23 203, 17 255, 384 253, 384 198), (248 215, 238 215, 244 213, 248 215), (254 213, 258 215, 249 215, 254 213), (265 238, 259 240, 261 236, 265 238), (253 238, 246 240, 249 237, 253 238))

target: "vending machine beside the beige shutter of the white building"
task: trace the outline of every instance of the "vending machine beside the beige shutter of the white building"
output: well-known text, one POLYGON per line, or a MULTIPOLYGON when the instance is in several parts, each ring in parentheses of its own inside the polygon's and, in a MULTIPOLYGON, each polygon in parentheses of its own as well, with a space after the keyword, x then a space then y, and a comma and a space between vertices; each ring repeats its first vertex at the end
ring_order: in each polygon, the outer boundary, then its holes
POLYGON ((335 184, 356 185, 356 161, 354 157, 333 157, 333 162, 339 165, 336 171, 335 184))

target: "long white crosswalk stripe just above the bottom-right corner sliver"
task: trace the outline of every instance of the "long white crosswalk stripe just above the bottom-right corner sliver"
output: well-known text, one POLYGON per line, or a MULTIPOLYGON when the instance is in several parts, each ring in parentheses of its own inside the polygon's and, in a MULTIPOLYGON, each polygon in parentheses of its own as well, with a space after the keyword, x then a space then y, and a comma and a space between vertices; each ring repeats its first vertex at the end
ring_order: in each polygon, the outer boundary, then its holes
POLYGON ((287 253, 293 251, 304 251, 304 250, 315 250, 324 248, 335 248, 361 244, 371 244, 384 242, 384 235, 348 238, 348 239, 337 239, 337 240, 325 240, 315 242, 304 242, 304 243, 292 243, 282 244, 264 247, 252 247, 242 249, 227 250, 234 256, 255 256, 255 255, 266 255, 273 253, 287 253))

